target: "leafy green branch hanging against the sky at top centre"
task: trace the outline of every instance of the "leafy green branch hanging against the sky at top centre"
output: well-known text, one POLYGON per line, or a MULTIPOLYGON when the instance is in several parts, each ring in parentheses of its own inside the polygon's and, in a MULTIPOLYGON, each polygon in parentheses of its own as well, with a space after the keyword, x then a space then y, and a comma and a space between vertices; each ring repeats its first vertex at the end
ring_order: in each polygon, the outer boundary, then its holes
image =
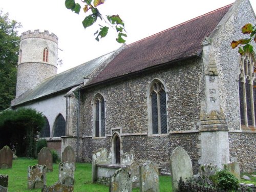
MULTIPOLYGON (((124 29, 124 23, 123 20, 120 18, 119 15, 106 15, 105 17, 99 12, 98 6, 104 3, 104 0, 94 0, 93 5, 92 0, 84 0, 82 1, 84 4, 83 6, 83 12, 89 14, 86 16, 82 22, 82 25, 84 29, 92 26, 93 24, 96 23, 97 19, 100 18, 102 21, 104 21, 108 26, 113 28, 117 32, 117 38, 116 41, 119 42, 120 44, 124 43, 125 40, 123 37, 126 37, 127 35, 125 34, 125 29, 124 29)), ((81 5, 78 3, 75 3, 75 0, 66 0, 65 1, 65 6, 67 9, 71 9, 75 13, 79 14, 81 10, 81 5)), ((100 28, 97 30, 94 35, 96 36, 96 40, 99 41, 99 38, 103 38, 108 34, 109 27, 99 25, 100 28)))

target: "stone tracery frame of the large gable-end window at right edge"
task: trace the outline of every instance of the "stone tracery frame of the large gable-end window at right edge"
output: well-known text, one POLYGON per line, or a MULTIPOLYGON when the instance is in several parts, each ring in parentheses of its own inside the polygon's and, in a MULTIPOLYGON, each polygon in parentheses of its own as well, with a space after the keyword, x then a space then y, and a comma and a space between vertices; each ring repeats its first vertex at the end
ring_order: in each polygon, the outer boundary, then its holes
POLYGON ((245 53, 240 57, 239 61, 239 111, 240 111, 240 125, 242 129, 246 127, 256 127, 256 59, 255 54, 245 53), (240 88, 241 87, 241 88, 240 88), (242 89, 242 90, 240 90, 242 89), (246 100, 246 94, 249 90, 249 100, 246 100), (241 96, 242 92, 242 96, 241 96), (250 103, 250 109, 248 109, 248 102, 250 103), (243 109, 243 111, 242 111, 243 109), (251 113, 251 123, 248 120, 248 110, 251 113), (244 116, 244 118, 242 118, 244 116), (243 122, 244 121, 244 122, 243 122))

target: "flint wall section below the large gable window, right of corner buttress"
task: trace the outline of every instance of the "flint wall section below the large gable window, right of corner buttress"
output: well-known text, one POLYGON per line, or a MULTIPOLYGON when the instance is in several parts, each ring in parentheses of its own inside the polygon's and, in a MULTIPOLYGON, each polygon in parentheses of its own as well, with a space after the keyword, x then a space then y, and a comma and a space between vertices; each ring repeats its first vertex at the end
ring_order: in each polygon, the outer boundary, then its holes
POLYGON ((256 133, 229 132, 230 157, 236 157, 241 172, 256 171, 256 133))

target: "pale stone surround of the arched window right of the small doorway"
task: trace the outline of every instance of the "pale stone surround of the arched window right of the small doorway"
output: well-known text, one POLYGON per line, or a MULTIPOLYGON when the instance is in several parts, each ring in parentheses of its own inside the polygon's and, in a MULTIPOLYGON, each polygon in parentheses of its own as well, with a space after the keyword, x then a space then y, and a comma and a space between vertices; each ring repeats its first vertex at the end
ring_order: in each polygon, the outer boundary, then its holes
MULTIPOLYGON (((154 78, 151 83, 148 85, 147 89, 147 116, 148 116, 148 136, 162 136, 162 135, 168 135, 169 134, 169 127, 168 127, 168 89, 163 82, 163 80, 159 78, 154 78), (152 86, 154 83, 160 82, 162 84, 162 87, 166 94, 166 126, 167 126, 167 132, 166 133, 160 133, 161 132, 161 126, 158 125, 158 134, 153 134, 153 122, 152 122, 152 99, 151 99, 151 92, 152 92, 152 86)), ((159 106, 158 106, 159 108, 159 106)), ((158 119, 161 119, 161 117, 158 115, 158 119)))

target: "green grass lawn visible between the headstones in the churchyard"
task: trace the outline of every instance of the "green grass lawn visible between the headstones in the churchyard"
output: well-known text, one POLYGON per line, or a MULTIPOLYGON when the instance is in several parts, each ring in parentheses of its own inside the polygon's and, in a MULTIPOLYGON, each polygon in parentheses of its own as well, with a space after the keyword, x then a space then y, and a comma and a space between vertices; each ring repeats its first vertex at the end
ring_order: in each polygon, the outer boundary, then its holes
MULTIPOLYGON (((21 191, 41 191, 41 189, 29 190, 28 188, 28 166, 35 165, 36 159, 18 158, 13 160, 11 169, 0 169, 0 174, 7 174, 8 191, 9 192, 21 192, 21 191)), ((101 192, 109 191, 109 186, 101 184, 92 184, 92 165, 90 163, 76 163, 75 170, 75 192, 101 192)), ((53 172, 47 173, 46 183, 47 186, 53 185, 58 181, 58 163, 53 164, 53 172)), ((160 191, 169 192, 172 191, 171 181, 169 176, 160 176, 160 191)), ((139 189, 133 189, 133 192, 138 192, 139 189)))

